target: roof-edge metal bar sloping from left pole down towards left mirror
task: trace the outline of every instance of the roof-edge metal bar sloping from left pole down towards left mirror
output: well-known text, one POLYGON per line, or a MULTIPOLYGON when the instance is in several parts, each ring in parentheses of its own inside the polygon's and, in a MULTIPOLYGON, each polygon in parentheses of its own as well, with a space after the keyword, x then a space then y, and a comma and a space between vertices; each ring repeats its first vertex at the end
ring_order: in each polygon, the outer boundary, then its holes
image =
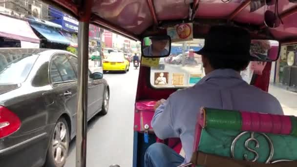
POLYGON ((116 33, 119 33, 120 35, 123 35, 123 36, 125 36, 125 37, 127 37, 129 39, 132 39, 132 40, 135 40, 135 41, 137 41, 137 40, 140 41, 139 37, 137 37, 135 34, 133 34, 131 32, 128 32, 127 30, 125 30, 122 27, 119 27, 117 25, 111 24, 108 21, 100 18, 97 15, 92 15, 91 22, 96 23, 99 26, 104 27, 106 29, 109 29, 111 31, 114 31, 116 33))

